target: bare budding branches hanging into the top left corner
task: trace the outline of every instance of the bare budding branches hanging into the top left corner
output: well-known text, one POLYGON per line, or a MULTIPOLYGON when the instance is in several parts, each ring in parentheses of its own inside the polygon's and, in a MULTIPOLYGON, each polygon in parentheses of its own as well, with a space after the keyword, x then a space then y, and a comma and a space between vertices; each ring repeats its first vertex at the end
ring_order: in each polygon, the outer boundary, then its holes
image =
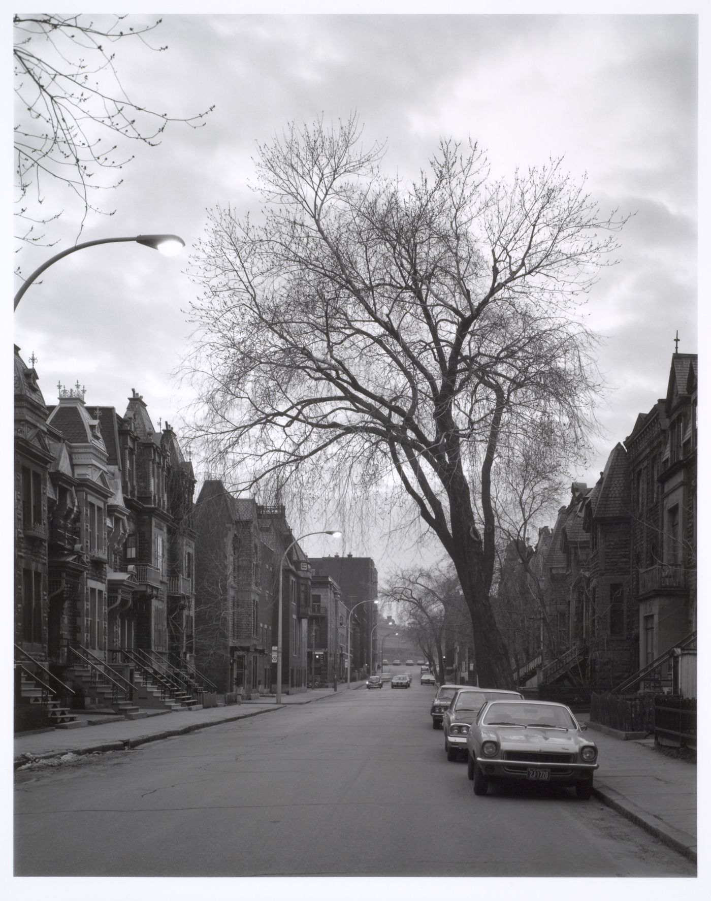
POLYGON ((122 183, 119 173, 133 159, 122 145, 138 141, 155 147, 170 122, 204 124, 214 107, 176 118, 135 103, 123 90, 114 44, 141 41, 148 50, 167 50, 151 46, 146 37, 160 22, 134 27, 125 15, 91 20, 14 14, 14 167, 23 241, 52 243, 45 226, 62 211, 43 206, 48 183, 63 183, 78 199, 83 227, 90 211, 114 213, 100 209, 92 195, 122 183), (102 180, 104 173, 108 178, 102 180))

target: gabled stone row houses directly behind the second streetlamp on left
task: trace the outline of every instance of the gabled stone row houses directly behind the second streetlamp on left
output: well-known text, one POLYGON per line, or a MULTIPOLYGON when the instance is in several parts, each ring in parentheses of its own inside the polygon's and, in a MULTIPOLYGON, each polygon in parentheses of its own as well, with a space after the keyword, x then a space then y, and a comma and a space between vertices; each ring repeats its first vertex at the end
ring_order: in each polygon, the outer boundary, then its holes
POLYGON ((305 691, 311 569, 284 507, 233 497, 208 479, 193 522, 197 668, 228 694, 250 698, 276 688, 281 566, 282 691, 305 691))

